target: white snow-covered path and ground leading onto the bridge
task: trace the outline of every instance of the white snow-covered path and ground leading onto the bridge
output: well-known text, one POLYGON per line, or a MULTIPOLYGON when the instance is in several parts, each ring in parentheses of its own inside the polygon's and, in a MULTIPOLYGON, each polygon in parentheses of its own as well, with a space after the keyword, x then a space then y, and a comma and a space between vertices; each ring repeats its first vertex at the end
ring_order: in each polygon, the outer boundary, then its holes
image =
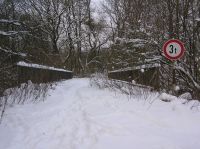
POLYGON ((181 99, 143 100, 89 85, 58 84, 45 102, 9 107, 0 149, 199 149, 200 112, 181 99), (150 104, 149 101, 154 101, 150 104))

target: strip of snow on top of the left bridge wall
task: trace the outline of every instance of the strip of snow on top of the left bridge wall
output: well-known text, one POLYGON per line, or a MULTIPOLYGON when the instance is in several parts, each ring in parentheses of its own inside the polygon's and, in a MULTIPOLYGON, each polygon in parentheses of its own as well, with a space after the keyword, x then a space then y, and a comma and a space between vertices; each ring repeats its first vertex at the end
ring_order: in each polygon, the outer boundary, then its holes
POLYGON ((69 70, 60 69, 60 68, 54 68, 54 67, 49 67, 49 66, 45 66, 45 65, 33 64, 33 63, 26 63, 24 61, 18 62, 17 66, 32 67, 32 68, 39 68, 39 69, 48 69, 48 70, 56 70, 56 71, 63 71, 63 72, 72 72, 72 71, 69 71, 69 70))

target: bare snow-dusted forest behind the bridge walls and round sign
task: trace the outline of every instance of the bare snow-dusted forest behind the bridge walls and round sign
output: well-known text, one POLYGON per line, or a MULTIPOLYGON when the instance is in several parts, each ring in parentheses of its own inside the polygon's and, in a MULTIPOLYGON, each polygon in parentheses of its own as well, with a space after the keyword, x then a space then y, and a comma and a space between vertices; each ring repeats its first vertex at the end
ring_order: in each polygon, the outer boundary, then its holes
POLYGON ((0 54, 0 94, 20 57, 76 76, 159 63, 160 91, 199 99, 200 1, 1 0, 0 54), (186 48, 176 62, 163 56, 169 39, 186 48))

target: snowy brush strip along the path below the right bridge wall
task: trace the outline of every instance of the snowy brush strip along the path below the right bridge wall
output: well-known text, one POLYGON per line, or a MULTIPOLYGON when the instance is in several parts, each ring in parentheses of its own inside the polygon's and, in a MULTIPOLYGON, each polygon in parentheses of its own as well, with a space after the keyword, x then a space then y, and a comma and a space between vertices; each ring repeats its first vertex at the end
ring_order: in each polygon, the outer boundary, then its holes
POLYGON ((101 73, 93 74, 90 78, 90 85, 98 87, 99 89, 109 89, 114 92, 119 92, 127 95, 129 99, 142 99, 149 103, 153 103, 155 100, 161 100, 163 102, 180 102, 181 104, 187 104, 190 109, 200 108, 200 102, 198 100, 192 100, 190 93, 184 93, 179 97, 170 95, 164 92, 155 92, 150 87, 140 84, 109 79, 106 75, 101 73))

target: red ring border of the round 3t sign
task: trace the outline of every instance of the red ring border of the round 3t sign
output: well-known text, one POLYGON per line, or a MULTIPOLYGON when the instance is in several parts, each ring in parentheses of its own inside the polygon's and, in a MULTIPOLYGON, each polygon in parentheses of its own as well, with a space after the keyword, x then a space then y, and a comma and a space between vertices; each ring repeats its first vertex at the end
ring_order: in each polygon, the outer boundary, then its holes
POLYGON ((180 59, 183 55, 184 55, 184 52, 185 52, 185 47, 184 47, 184 44, 178 40, 178 39, 171 39, 171 40, 168 40, 167 42, 165 42, 164 46, 163 46, 163 52, 164 52, 164 55, 166 56, 166 58, 168 58, 169 60, 178 60, 180 59), (176 42, 177 44, 180 45, 181 47, 181 53, 176 56, 176 57, 171 57, 170 55, 168 55, 167 53, 167 46, 171 43, 171 42, 176 42))

